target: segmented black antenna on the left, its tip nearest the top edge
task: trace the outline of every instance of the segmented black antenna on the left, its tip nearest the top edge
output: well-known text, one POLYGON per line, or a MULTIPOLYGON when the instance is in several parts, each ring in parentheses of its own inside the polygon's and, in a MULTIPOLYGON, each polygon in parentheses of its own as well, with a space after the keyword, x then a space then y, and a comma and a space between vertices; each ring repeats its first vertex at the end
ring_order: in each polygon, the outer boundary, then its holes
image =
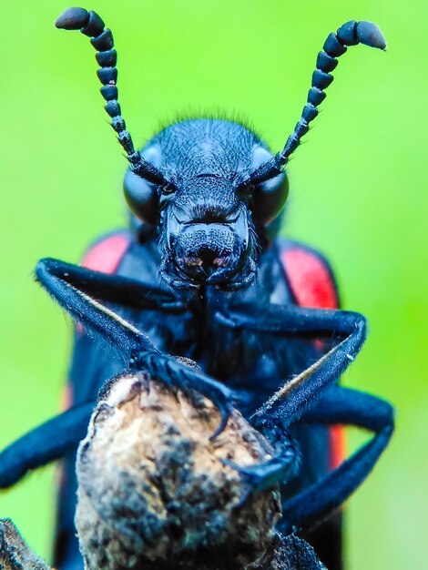
POLYGON ((132 170, 141 178, 146 178, 154 184, 166 184, 163 174, 141 157, 134 148, 132 138, 127 132, 124 119, 121 116, 117 97, 117 51, 113 48, 114 40, 111 30, 105 27, 103 20, 92 10, 85 8, 68 8, 55 23, 56 27, 64 30, 80 30, 91 38, 91 44, 97 50, 96 58, 99 69, 98 79, 103 84, 101 95, 106 99, 105 109, 111 117, 111 126, 117 132, 117 138, 127 153, 132 170))

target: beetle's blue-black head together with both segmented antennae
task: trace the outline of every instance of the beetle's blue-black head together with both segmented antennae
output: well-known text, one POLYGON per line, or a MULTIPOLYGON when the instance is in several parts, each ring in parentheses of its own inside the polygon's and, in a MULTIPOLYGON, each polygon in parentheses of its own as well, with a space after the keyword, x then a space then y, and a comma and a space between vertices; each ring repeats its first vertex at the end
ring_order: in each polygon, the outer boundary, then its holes
POLYGON ((139 219, 158 226, 160 272, 176 287, 206 282, 230 290, 250 283, 256 232, 266 229, 285 204, 283 168, 318 115, 337 58, 348 46, 386 47, 381 30, 371 22, 352 20, 331 33, 318 54, 301 118, 274 156, 249 129, 210 119, 171 125, 138 152, 118 103, 111 30, 84 8, 68 8, 56 26, 80 30, 97 51, 105 108, 131 168, 125 179, 127 202, 139 219))

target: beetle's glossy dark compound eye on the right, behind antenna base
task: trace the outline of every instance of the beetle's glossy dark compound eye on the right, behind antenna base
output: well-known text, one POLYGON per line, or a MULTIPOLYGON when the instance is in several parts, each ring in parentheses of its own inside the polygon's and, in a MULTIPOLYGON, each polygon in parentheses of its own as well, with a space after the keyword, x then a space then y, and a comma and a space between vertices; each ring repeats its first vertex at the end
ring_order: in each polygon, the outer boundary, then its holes
MULTIPOLYGON (((269 150, 256 147, 253 151, 252 168, 255 170, 272 158, 269 150)), ((266 226, 279 216, 289 195, 289 179, 285 173, 263 182, 254 190, 254 222, 266 226)))

